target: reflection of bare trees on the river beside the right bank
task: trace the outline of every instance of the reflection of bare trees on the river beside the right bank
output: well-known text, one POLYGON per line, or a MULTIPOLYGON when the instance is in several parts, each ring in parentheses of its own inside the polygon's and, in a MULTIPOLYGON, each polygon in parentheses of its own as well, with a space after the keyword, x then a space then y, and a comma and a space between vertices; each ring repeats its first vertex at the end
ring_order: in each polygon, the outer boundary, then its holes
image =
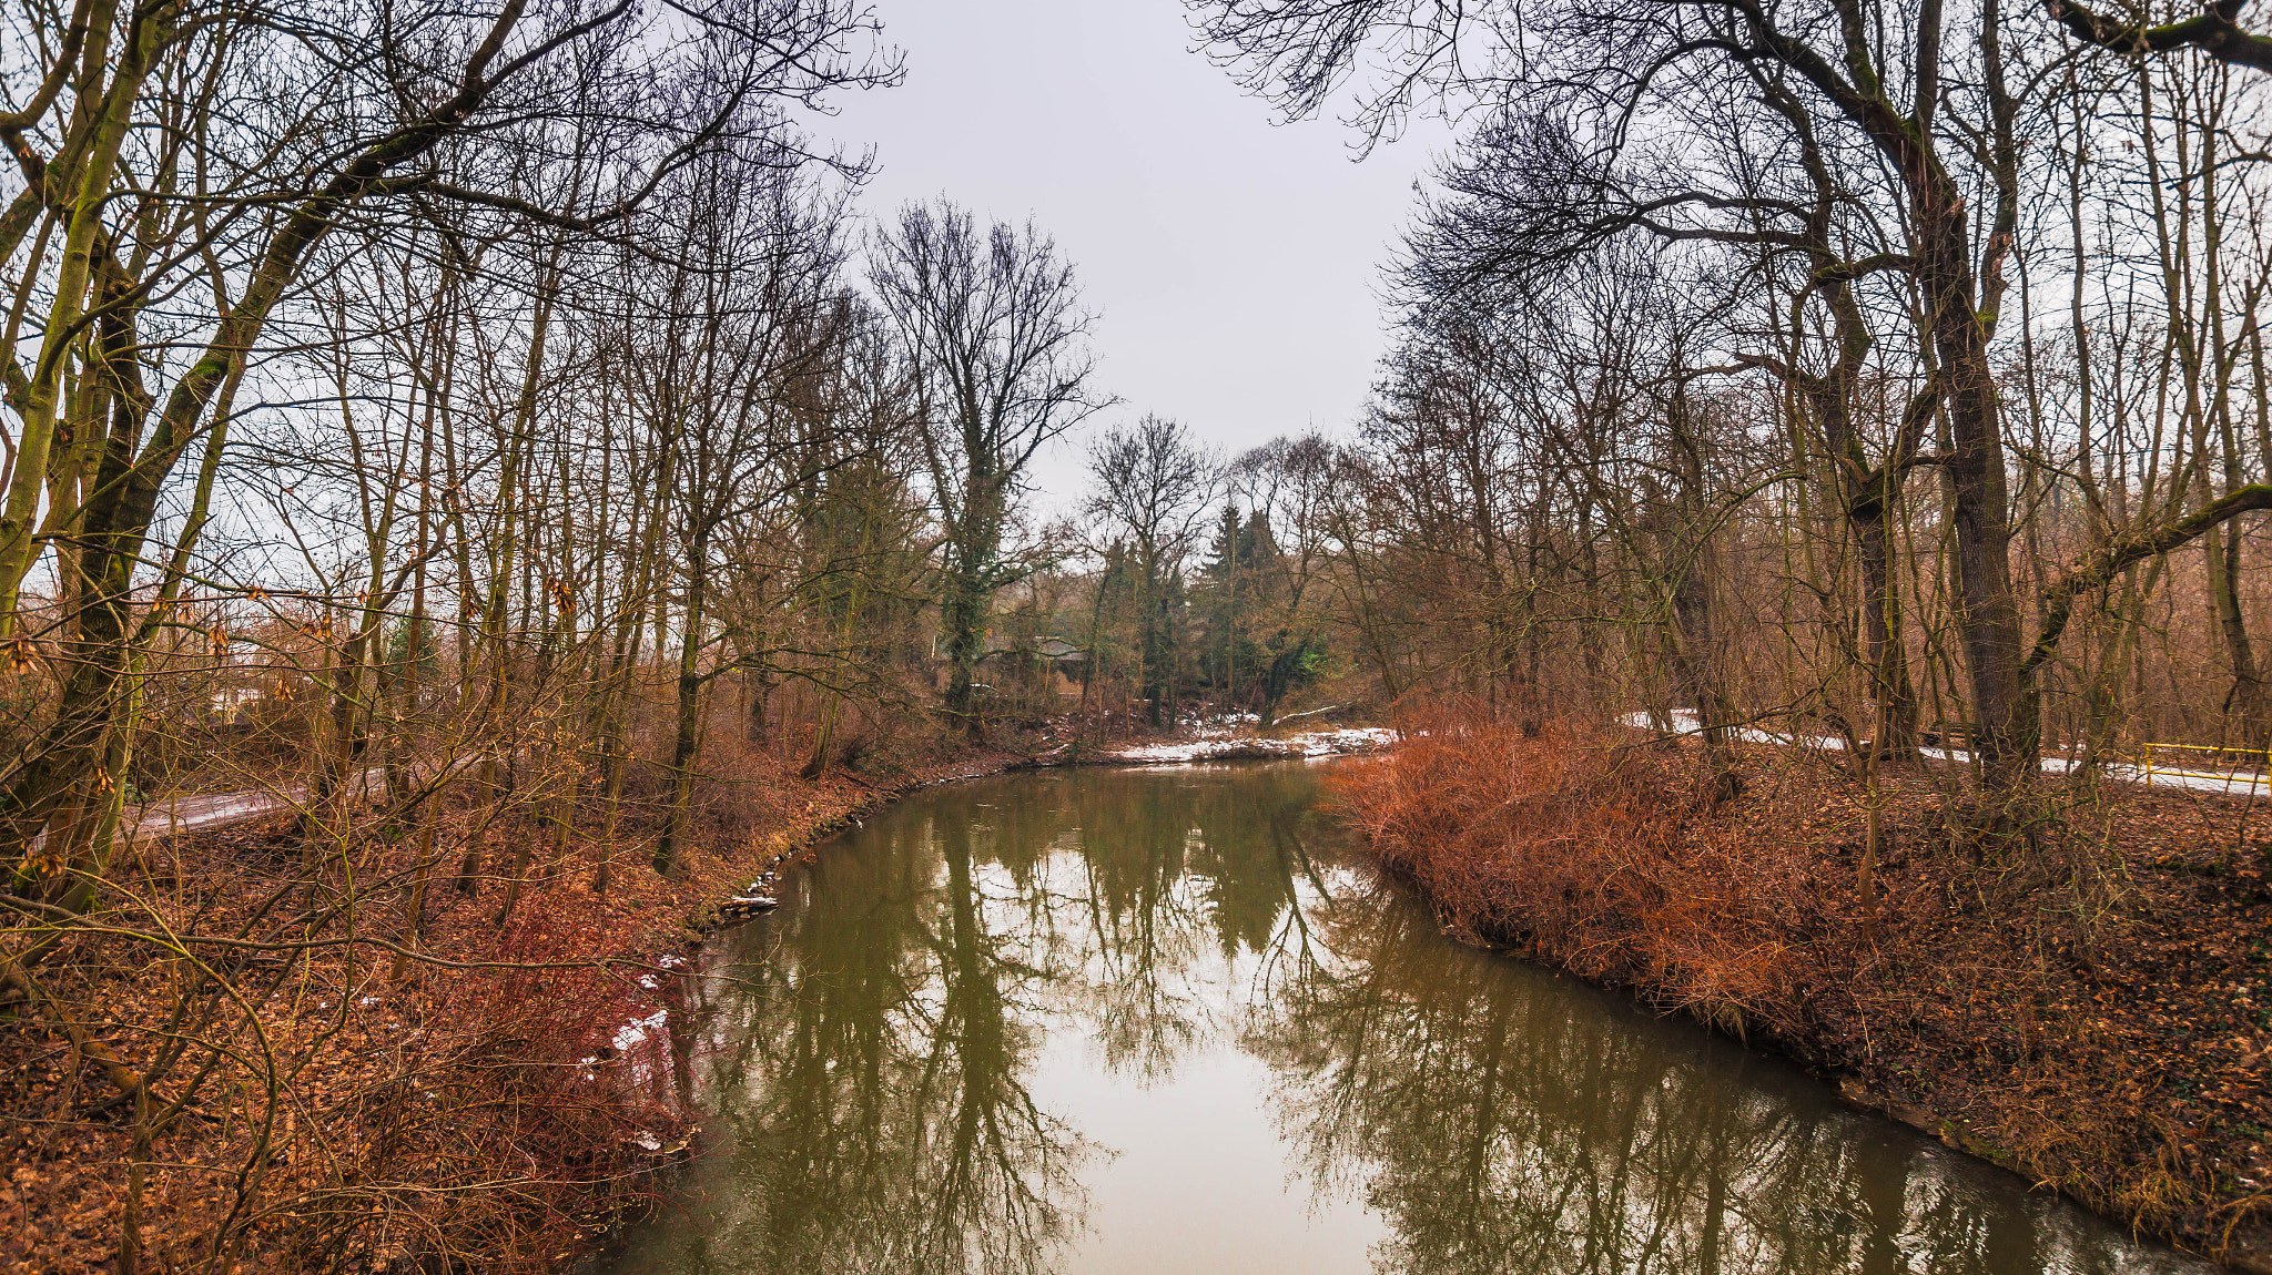
POLYGON ((1313 905, 1329 957, 1259 1005, 1304 1171, 1409 1273, 2188 1268, 1790 1069, 1445 942, 1390 889, 1313 905))

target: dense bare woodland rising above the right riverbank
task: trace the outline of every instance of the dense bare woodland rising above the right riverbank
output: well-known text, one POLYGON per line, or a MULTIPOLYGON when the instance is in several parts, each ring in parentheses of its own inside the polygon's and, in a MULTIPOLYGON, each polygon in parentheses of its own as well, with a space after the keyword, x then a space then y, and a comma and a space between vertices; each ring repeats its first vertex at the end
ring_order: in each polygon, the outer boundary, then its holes
POLYGON ((1974 737, 1999 790, 2045 749, 2272 742, 2247 57, 1993 5, 1395 14, 1211 18, 1295 109, 1381 25, 1361 125, 1479 120, 1350 456, 1352 574, 1456 581, 1347 608, 1390 687, 1974 737))

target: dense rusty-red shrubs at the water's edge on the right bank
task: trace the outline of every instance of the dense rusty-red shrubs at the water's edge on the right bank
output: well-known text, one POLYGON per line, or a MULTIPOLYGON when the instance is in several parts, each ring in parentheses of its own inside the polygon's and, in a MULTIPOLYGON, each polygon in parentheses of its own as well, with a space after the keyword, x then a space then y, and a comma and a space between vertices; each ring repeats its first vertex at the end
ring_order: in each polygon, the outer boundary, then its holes
POLYGON ((1461 932, 1724 1030, 1788 1032, 1813 980, 1790 942, 1811 876, 1784 846, 1709 835, 1706 792, 1693 753, 1570 721, 1525 737, 1479 708, 1413 719, 1402 749, 1336 780, 1381 862, 1461 932))

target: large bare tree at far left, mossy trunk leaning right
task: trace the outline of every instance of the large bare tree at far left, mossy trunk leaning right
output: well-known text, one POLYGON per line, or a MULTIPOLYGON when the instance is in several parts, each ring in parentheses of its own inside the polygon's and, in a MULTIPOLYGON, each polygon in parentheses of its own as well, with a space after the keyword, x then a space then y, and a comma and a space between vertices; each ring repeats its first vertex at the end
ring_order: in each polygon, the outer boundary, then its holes
MULTIPOLYGON (((11 64, 27 109, 0 120, 23 177, 0 213, 16 297, 0 374, 18 417, 0 626, 73 644, 0 799, 11 858, 95 783, 132 699, 132 649, 166 610, 136 608, 136 590, 170 594, 186 572, 186 542, 164 579, 141 569, 164 558, 145 544, 161 492, 198 442, 220 456, 248 368, 341 227, 384 234, 389 216, 457 204, 600 234, 722 138, 779 129, 782 102, 895 73, 857 48, 868 18, 834 0, 686 9, 666 52, 634 52, 657 20, 634 5, 400 18, 86 5, 64 29, 27 32, 34 57, 11 64), (229 127, 182 125, 218 118, 229 127), (611 186, 548 206, 520 177, 577 118, 604 118, 620 163, 611 186), (45 499, 55 442, 95 436, 84 499, 45 499), (75 606, 32 619, 18 594, 50 551, 75 606)), ((198 508, 186 526, 202 522, 198 508)))

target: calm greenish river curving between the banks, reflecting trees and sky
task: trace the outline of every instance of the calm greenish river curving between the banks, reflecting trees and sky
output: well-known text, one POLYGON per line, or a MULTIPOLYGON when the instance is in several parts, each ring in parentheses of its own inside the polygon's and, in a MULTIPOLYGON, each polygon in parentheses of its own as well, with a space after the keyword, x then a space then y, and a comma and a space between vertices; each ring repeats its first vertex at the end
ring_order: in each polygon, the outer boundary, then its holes
POLYGON ((1454 944, 1327 769, 995 778, 832 842, 688 976, 650 1075, 707 1152, 604 1270, 2206 1270, 1454 944))

